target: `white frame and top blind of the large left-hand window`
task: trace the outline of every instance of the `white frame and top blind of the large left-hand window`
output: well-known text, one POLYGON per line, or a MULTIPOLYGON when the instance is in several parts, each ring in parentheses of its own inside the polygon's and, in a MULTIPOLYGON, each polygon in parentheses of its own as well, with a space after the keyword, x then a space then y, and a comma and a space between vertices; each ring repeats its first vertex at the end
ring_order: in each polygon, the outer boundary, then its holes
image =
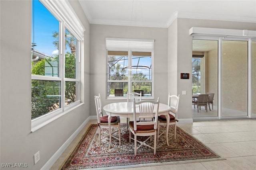
MULTIPOLYGON (((78 16, 72 9, 68 0, 39 0, 45 8, 59 21, 59 76, 41 76, 31 74, 31 80, 51 80, 61 82, 61 108, 46 113, 40 117, 31 120, 31 132, 34 132, 48 123, 58 119, 62 115, 70 112, 72 109, 81 106, 81 55, 84 50, 84 31, 85 28, 78 16), (69 11, 68 13, 66 11, 69 11), (76 78, 65 78, 65 29, 67 29, 76 38, 76 78), (76 87, 77 100, 65 106, 65 84, 66 82, 78 82, 76 87)), ((32 9, 32 8, 31 8, 32 9)))

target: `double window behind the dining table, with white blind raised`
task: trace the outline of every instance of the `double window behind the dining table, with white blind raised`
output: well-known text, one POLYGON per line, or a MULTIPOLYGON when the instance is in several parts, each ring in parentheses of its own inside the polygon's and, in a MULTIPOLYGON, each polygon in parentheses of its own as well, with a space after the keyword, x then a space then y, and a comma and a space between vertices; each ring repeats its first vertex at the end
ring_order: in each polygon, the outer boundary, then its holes
POLYGON ((126 96, 134 90, 142 91, 144 97, 153 96, 153 42, 106 39, 108 97, 126 96), (120 47, 122 50, 116 50, 120 47))

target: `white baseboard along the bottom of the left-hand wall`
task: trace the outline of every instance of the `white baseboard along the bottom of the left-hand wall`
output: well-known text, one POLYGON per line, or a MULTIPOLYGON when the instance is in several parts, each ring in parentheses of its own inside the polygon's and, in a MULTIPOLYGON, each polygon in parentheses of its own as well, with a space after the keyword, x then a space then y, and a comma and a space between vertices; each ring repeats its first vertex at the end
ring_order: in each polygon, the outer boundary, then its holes
MULTIPOLYGON (((96 116, 95 116, 96 117, 96 116)), ((83 123, 76 129, 76 131, 68 138, 68 140, 52 155, 52 157, 44 164, 41 170, 49 170, 52 165, 58 160, 61 154, 67 149, 70 143, 76 138, 84 126, 91 120, 94 116, 89 116, 83 123)))

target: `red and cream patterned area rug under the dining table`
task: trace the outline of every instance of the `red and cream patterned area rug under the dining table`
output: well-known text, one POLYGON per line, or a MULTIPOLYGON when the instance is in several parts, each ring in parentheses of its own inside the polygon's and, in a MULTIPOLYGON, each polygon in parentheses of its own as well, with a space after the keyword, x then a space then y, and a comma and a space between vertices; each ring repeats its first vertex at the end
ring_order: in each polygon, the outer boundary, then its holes
MULTIPOLYGON (((160 127, 164 128, 164 127, 160 127)), ((118 136, 118 133, 116 133, 118 136)), ((134 141, 129 143, 129 131, 126 124, 121 124, 121 145, 112 138, 112 148, 108 149, 108 137, 98 140, 98 126, 90 125, 81 141, 78 143, 62 170, 78 169, 118 169, 138 166, 153 166, 158 164, 172 164, 184 162, 202 162, 222 159, 200 141, 177 127, 174 140, 174 126, 169 128, 169 146, 166 136, 162 135, 156 146, 156 154, 148 147, 141 147, 134 155, 134 141)), ((154 140, 152 140, 153 145, 154 140)), ((137 143, 138 145, 138 143, 137 143)))

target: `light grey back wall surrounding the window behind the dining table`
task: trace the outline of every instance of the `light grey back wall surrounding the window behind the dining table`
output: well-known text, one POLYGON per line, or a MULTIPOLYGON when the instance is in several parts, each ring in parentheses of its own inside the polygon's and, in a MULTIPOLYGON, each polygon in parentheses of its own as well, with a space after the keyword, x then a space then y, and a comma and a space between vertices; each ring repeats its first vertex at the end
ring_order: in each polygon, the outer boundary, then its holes
MULTIPOLYGON (((96 115, 94 96, 102 96, 102 106, 117 102, 106 100, 106 37, 154 39, 154 100, 167 104, 167 28, 90 25, 90 115, 96 115)), ((124 100, 121 100, 125 102, 124 100)))

